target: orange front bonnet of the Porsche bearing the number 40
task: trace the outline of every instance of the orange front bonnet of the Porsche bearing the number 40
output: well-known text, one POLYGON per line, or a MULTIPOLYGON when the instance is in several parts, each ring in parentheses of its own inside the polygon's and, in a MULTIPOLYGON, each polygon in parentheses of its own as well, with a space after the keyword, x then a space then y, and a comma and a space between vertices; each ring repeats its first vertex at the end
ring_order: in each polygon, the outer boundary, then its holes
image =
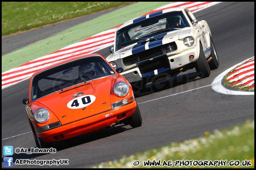
POLYGON ((52 111, 62 125, 90 117, 111 109, 112 77, 88 81, 40 98, 37 102, 52 111))

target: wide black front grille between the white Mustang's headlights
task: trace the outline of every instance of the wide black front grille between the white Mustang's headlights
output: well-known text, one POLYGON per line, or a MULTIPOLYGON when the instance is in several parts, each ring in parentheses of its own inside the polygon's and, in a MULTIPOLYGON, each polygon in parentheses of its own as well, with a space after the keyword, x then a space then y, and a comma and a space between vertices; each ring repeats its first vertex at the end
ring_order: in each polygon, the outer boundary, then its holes
POLYGON ((169 44, 164 44, 161 46, 157 46, 142 52, 138 52, 134 55, 123 58, 124 66, 130 66, 132 64, 148 60, 150 58, 154 58, 168 52, 176 51, 177 45, 175 42, 171 42, 169 44))

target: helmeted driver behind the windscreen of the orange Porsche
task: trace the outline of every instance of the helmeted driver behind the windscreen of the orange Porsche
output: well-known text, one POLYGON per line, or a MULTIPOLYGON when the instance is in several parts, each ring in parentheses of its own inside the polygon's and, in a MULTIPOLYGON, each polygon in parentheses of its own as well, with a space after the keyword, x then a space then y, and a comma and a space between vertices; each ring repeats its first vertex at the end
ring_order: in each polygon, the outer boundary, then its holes
POLYGON ((86 79, 96 75, 95 68, 92 64, 83 64, 78 68, 78 76, 80 79, 86 79))

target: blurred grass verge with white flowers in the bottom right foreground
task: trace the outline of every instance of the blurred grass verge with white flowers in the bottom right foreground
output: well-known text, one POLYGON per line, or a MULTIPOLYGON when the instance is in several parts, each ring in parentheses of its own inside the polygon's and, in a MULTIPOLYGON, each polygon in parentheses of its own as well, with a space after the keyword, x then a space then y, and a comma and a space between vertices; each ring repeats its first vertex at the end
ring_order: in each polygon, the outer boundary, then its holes
MULTIPOLYGON (((234 163, 234 162, 232 162, 234 163)), ((254 168, 254 120, 245 121, 245 124, 234 126, 228 130, 214 130, 212 133, 204 132, 204 135, 183 143, 172 142, 170 145, 135 155, 123 156, 119 160, 103 162, 90 168, 254 168), (133 166, 134 161, 140 164, 133 166), (167 163, 172 160, 250 160, 251 166, 143 166, 144 161, 160 160, 160 163, 167 163)))

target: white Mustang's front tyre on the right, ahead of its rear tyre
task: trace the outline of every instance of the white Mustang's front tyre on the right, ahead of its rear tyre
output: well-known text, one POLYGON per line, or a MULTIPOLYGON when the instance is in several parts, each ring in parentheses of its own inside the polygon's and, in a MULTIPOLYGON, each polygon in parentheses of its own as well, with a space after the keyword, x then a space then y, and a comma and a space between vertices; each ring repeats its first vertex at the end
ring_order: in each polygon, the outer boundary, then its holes
POLYGON ((209 67, 209 64, 207 63, 206 56, 204 55, 203 47, 201 44, 200 44, 199 57, 196 61, 196 71, 198 76, 201 78, 206 78, 206 77, 209 77, 210 75, 210 67, 209 67))

